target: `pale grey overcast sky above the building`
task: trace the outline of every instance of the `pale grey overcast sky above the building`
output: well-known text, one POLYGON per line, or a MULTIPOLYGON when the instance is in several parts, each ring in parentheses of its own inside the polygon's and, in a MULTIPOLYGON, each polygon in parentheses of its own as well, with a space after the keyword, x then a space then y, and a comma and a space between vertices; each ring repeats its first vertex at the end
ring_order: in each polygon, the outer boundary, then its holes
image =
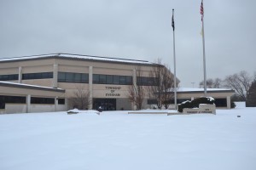
MULTIPOLYGON (((201 0, 0 0, 0 58, 88 54, 162 59, 177 77, 203 80, 201 0)), ((205 0, 207 78, 256 71, 256 1, 205 0)))

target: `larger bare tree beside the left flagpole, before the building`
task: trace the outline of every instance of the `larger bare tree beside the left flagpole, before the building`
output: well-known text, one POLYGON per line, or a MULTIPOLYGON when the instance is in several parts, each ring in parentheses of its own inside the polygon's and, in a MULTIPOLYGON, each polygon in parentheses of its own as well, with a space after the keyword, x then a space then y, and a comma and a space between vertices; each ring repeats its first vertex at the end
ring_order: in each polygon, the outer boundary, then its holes
POLYGON ((154 77, 152 85, 148 87, 150 89, 149 93, 156 99, 159 109, 161 109, 163 105, 167 109, 174 96, 174 77, 170 69, 168 69, 167 65, 162 65, 161 60, 158 59, 149 75, 150 77, 154 77))

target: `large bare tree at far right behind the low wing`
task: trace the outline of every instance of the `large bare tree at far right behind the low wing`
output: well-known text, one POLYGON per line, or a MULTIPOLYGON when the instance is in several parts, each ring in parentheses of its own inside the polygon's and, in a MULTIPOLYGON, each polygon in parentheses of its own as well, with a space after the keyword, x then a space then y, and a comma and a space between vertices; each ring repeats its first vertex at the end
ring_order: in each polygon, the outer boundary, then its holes
POLYGON ((225 84, 229 88, 233 88, 242 100, 247 99, 248 90, 250 88, 252 77, 249 76, 247 71, 240 71, 234 75, 225 78, 225 84))

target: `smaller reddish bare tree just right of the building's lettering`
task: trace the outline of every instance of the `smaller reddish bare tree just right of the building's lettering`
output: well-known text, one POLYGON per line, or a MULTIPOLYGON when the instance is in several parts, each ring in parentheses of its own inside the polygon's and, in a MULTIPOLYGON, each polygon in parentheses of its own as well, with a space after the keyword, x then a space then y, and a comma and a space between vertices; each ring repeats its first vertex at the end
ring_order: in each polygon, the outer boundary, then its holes
MULTIPOLYGON (((142 76, 142 70, 140 65, 136 66, 136 76, 142 76)), ((128 88, 127 97, 132 103, 134 103, 134 105, 137 106, 137 110, 141 110, 143 107, 143 99, 145 98, 145 88, 143 87, 143 84, 137 84, 134 82, 128 88)))

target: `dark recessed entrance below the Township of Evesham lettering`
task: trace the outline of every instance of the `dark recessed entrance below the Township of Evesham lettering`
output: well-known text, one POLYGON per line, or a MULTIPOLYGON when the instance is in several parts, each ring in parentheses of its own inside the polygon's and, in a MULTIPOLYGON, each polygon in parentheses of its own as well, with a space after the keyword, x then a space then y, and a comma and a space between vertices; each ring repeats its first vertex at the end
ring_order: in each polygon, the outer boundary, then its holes
POLYGON ((93 99, 93 109, 98 110, 102 107, 102 111, 116 111, 116 99, 93 99))

